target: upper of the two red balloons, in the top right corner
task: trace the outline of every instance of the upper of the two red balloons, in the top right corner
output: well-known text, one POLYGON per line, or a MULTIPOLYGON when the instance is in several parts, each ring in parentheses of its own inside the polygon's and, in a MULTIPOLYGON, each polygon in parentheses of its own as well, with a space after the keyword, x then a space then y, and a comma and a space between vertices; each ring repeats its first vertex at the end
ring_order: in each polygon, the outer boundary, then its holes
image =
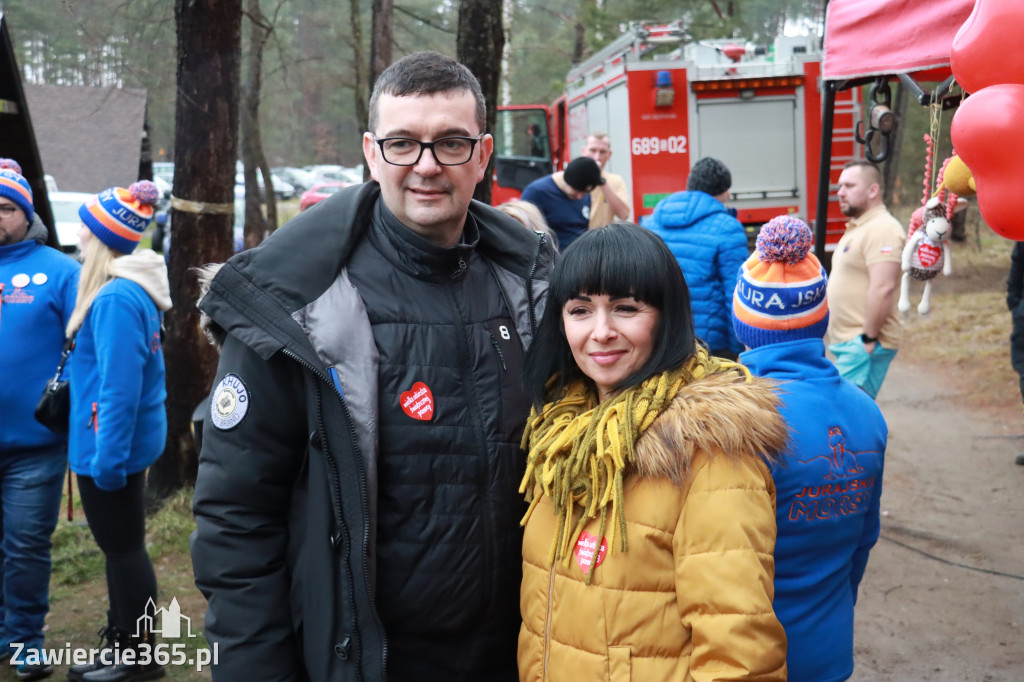
POLYGON ((990 85, 1024 84, 1024 2, 976 0, 956 32, 949 66, 959 86, 978 92, 990 85))

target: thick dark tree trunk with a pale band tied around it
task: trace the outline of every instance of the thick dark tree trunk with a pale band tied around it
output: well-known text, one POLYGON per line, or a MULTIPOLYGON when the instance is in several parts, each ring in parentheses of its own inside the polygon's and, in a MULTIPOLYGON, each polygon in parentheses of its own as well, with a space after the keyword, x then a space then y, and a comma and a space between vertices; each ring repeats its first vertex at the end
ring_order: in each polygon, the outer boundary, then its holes
POLYGON ((191 414, 210 390, 217 356, 199 332, 190 268, 231 254, 238 152, 242 0, 175 0, 178 35, 170 264, 166 315, 167 447, 150 472, 151 498, 196 481, 191 414))

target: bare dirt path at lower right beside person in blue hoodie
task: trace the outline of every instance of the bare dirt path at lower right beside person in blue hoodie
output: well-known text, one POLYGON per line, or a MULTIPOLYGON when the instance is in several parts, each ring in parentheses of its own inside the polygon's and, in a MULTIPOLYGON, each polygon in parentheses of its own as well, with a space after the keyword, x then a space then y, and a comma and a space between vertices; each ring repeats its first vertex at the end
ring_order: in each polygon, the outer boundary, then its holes
POLYGON ((897 356, 879 395, 882 539, 857 603, 854 682, 1024 680, 1024 416, 1017 395, 967 410, 951 383, 897 356))

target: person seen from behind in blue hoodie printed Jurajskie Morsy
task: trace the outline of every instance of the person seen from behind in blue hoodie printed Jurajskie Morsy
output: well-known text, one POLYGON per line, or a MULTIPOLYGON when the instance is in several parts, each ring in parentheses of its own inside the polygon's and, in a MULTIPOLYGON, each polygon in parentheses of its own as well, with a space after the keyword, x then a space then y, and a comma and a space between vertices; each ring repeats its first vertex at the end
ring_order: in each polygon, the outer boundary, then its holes
POLYGON ((804 221, 780 216, 758 236, 733 296, 739 360, 777 382, 791 442, 776 488, 775 614, 790 679, 853 674, 853 610, 879 539, 888 428, 860 388, 825 356, 827 278, 804 221))

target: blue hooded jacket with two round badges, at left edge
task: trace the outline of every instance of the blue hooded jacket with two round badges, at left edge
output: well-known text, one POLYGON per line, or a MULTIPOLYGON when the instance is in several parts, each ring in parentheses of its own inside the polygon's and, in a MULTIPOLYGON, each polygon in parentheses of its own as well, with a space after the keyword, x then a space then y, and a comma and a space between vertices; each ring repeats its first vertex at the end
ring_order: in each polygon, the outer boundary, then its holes
POLYGON ((0 455, 63 439, 33 413, 60 359, 80 266, 36 235, 46 238, 41 222, 24 242, 0 247, 0 455))

